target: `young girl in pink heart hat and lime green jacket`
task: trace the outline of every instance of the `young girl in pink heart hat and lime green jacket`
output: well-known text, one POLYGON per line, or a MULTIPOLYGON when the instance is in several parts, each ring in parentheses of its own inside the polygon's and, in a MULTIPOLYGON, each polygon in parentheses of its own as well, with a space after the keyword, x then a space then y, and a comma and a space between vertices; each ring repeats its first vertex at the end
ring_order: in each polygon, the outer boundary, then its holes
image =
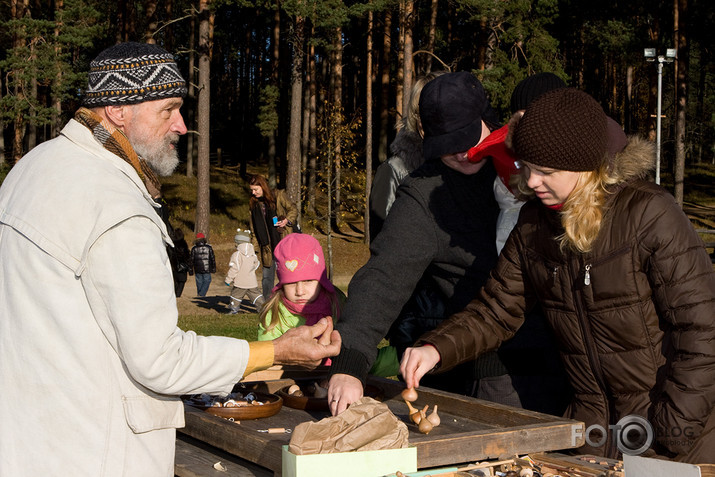
POLYGON ((278 338, 324 316, 337 321, 345 295, 328 280, 320 242, 310 235, 290 234, 278 242, 274 256, 278 284, 263 307, 258 340, 278 338))

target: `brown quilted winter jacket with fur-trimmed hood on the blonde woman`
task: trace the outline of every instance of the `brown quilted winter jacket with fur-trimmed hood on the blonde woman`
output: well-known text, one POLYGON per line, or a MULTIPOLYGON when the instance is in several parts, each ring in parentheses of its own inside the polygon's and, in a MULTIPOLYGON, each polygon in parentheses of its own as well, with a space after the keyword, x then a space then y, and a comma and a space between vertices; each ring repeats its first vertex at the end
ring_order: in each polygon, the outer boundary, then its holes
MULTIPOLYGON (((614 187, 589 253, 562 253, 558 212, 527 203, 478 297, 417 344, 434 345, 449 369, 512 336, 538 302, 575 390, 567 417, 608 429, 642 416, 655 434, 644 455, 712 463, 715 273, 673 197, 642 180, 652 157, 635 138, 618 155, 627 179, 614 187)), ((616 457, 638 448, 608 433, 605 444, 578 451, 616 457)))

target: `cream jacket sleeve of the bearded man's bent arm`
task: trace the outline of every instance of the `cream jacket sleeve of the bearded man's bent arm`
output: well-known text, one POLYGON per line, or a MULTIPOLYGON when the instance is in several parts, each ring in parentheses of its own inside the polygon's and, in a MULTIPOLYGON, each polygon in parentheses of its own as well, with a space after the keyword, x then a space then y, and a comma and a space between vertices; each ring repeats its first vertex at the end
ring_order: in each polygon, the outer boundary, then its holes
POLYGON ((92 315, 127 372, 160 394, 230 392, 249 361, 246 341, 177 327, 171 270, 149 219, 125 220, 91 247, 82 274, 92 315))

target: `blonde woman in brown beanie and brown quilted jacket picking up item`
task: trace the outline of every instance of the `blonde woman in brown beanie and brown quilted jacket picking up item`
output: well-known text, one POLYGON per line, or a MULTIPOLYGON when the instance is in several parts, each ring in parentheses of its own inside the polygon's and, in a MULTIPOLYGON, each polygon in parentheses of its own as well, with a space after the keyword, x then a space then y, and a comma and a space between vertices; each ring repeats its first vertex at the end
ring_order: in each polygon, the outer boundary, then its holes
POLYGON ((610 154, 620 139, 582 91, 529 104, 507 145, 518 190, 536 198, 477 297, 405 351, 400 370, 418 387, 499 346, 538 303, 574 389, 566 417, 607 432, 579 453, 617 458, 617 424, 639 416, 652 426, 641 455, 715 463, 715 271, 673 196, 647 180, 653 144, 631 137, 610 154))

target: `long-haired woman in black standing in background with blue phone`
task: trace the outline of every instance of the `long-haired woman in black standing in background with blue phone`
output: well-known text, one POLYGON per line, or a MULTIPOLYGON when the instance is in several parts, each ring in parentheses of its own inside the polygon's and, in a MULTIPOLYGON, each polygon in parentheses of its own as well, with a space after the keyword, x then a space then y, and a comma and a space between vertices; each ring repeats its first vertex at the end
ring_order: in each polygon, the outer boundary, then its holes
POLYGON ((263 296, 268 297, 273 290, 276 266, 273 251, 286 235, 297 231, 298 209, 288 199, 283 190, 272 190, 266 178, 256 174, 248 182, 251 199, 248 208, 251 211, 251 233, 258 242, 263 274, 261 287, 263 296))

